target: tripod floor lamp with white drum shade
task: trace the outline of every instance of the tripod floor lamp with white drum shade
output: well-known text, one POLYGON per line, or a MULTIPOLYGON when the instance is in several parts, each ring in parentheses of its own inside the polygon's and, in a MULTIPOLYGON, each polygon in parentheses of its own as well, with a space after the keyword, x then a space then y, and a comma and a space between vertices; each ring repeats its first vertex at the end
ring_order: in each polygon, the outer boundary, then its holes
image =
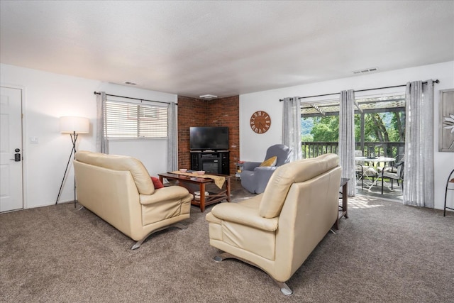
MULTIPOLYGON (((60 185, 60 190, 58 191, 57 201, 60 199, 60 194, 62 194, 63 183, 65 183, 66 173, 68 167, 70 166, 72 154, 74 153, 74 158, 76 156, 76 141, 79 133, 89 133, 90 130, 90 121, 88 118, 74 117, 74 116, 62 116, 60 117, 60 133, 69 133, 72 141, 72 149, 70 153, 70 158, 68 159, 65 174, 63 175, 62 184, 60 185)), ((74 175, 74 208, 76 207, 76 176, 74 175)))

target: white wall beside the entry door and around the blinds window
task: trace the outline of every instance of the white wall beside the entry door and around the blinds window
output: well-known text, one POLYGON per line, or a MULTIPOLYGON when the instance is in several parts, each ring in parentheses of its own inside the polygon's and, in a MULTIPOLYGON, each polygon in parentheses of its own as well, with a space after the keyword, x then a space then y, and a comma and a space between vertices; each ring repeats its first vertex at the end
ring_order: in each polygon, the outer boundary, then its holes
MULTIPOLYGON (((0 65, 1 86, 22 88, 24 208, 55 204, 72 148, 70 136, 59 131, 60 116, 90 119, 90 133, 80 135, 77 150, 96 148, 95 91, 108 94, 177 102, 177 95, 136 89, 92 79, 82 79, 12 65, 0 65), (30 143, 37 137, 38 143, 30 143)), ((165 171, 167 141, 140 141, 131 152, 131 141, 116 141, 111 153, 133 155, 144 162, 151 175, 165 171), (129 148, 126 149, 125 146, 129 148), (154 166, 158 163, 157 168, 154 166), (162 163, 164 167, 162 167, 162 163)), ((72 201, 74 172, 70 166, 60 202, 72 201)))

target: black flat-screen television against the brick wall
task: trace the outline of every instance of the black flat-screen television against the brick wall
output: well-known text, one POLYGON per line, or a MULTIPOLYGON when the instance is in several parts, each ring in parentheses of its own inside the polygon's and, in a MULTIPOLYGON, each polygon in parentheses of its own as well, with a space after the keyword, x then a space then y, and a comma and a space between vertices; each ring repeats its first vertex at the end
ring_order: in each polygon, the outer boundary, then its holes
POLYGON ((189 144, 191 150, 228 150, 228 127, 190 127, 189 144))

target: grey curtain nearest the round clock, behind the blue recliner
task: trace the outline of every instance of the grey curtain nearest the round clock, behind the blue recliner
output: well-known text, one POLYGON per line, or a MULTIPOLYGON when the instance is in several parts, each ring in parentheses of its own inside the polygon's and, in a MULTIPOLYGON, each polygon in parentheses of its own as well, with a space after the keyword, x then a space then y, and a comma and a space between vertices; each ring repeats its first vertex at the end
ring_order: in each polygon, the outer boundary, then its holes
POLYGON ((282 144, 292 148, 292 161, 301 159, 301 102, 299 97, 284 98, 282 144))

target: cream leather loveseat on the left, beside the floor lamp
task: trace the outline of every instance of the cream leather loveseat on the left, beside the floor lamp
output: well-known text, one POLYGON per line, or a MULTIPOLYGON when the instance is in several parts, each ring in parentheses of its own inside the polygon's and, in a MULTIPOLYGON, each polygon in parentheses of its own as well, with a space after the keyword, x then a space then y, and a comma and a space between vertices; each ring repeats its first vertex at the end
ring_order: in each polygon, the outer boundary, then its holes
POLYGON ((155 189, 139 160, 123 155, 79 151, 74 173, 77 201, 137 241, 170 226, 186 228, 192 194, 179 186, 155 189))

